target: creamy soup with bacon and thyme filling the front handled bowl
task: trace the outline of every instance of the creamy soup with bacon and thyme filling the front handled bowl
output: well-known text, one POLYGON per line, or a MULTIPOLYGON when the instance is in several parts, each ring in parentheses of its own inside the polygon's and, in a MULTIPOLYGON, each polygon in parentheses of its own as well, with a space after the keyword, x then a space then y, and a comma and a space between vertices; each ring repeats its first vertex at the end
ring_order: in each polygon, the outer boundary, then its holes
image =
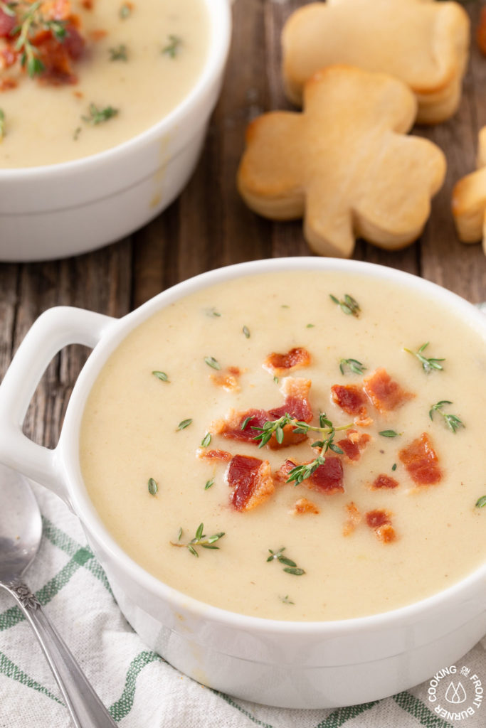
POLYGON ((232 612, 339 620, 486 557, 484 336, 428 296, 275 272, 136 328, 90 392, 87 491, 130 557, 232 612))

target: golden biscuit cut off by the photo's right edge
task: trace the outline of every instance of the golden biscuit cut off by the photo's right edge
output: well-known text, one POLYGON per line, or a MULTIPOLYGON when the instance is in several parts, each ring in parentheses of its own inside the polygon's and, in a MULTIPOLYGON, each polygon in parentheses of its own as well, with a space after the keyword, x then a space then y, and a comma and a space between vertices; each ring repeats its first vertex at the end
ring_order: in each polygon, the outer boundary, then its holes
POLYGON ((482 238, 486 253, 486 127, 479 132, 477 172, 466 175, 452 190, 452 214, 462 242, 482 238))

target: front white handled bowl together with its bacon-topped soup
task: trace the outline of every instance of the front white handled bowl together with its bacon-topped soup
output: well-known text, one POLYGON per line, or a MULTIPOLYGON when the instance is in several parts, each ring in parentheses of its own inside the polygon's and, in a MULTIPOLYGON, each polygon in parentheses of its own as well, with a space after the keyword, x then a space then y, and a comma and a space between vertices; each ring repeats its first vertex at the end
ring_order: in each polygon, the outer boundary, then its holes
POLYGON ((177 668, 270 705, 361 703, 485 633, 485 374, 482 314, 434 284, 241 264, 120 321, 43 314, 0 387, 0 456, 79 515, 177 668), (50 452, 16 423, 72 341, 95 348, 50 452))

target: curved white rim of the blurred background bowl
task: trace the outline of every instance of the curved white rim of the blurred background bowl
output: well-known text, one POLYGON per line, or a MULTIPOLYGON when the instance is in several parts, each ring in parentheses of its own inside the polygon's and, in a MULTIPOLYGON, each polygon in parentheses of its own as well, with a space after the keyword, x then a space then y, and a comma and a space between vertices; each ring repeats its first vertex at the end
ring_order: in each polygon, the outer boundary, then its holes
POLYGON ((190 116, 203 99, 206 92, 211 90, 211 84, 222 74, 231 40, 231 2, 230 0, 201 0, 208 14, 209 37, 203 70, 197 76, 195 84, 187 95, 148 129, 139 132, 116 146, 103 149, 95 154, 79 159, 69 159, 66 162, 57 162, 53 165, 39 165, 36 167, 0 167, 0 181, 22 181, 25 178, 46 178, 63 175, 66 172, 75 173, 78 170, 89 170, 99 164, 109 163, 113 157, 130 154, 139 146, 154 141, 160 135, 166 134, 173 127, 177 127, 181 119, 190 116))

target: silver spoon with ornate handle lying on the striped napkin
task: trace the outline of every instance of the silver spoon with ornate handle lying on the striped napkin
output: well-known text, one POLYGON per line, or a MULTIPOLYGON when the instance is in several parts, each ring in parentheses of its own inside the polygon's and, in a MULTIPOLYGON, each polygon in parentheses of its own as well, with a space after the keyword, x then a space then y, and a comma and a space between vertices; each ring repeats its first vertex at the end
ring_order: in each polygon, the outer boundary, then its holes
POLYGON ((0 587, 15 598, 26 615, 76 728, 117 728, 42 612, 38 599, 23 582, 23 574, 35 558, 41 536, 41 514, 30 486, 17 472, 0 465, 0 587))

